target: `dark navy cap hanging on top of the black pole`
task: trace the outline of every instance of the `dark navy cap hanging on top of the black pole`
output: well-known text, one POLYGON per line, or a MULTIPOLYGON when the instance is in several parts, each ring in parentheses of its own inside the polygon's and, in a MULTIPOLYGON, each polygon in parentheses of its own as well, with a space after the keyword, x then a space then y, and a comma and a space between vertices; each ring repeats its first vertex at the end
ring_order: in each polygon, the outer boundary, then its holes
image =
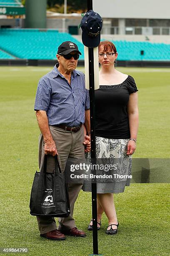
POLYGON ((82 28, 82 42, 85 46, 94 48, 100 44, 100 31, 102 29, 102 18, 98 13, 89 10, 85 13, 80 24, 82 28))

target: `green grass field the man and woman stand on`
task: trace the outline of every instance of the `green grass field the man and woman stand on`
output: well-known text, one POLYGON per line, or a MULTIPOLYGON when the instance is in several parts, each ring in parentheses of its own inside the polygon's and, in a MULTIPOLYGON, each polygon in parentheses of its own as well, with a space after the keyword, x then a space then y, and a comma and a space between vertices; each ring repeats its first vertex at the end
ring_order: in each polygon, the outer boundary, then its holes
MULTIPOLYGON (((170 72, 158 68, 117 68, 135 78, 140 128, 134 157, 170 157, 170 72)), ((86 256, 92 233, 65 241, 40 238, 29 213, 32 180, 38 169, 39 128, 34 112, 37 82, 51 67, 0 67, 0 247, 28 247, 30 256, 86 256)), ((82 69, 81 69, 82 70, 82 69)), ((131 184, 115 195, 120 226, 116 236, 98 232, 104 256, 170 255, 170 184, 131 184)), ((87 231, 91 194, 80 192, 74 212, 77 227, 87 231)), ((11 254, 16 255, 16 254, 11 254)))

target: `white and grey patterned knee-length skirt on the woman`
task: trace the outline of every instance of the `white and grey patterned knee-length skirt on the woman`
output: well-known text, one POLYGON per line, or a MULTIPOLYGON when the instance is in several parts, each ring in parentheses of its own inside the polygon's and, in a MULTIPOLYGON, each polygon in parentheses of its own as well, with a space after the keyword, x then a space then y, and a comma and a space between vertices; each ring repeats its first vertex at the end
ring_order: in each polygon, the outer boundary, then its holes
MULTIPOLYGON (((129 139, 108 139, 96 136, 96 158, 117 159, 119 161, 119 174, 129 176, 131 174, 132 156, 126 154, 129 139)), ((86 154, 86 158, 91 158, 91 154, 86 154)), ((113 182, 97 182, 97 193, 122 193, 125 186, 130 186, 130 178, 119 178, 113 182)), ((91 182, 85 179, 82 187, 83 191, 91 192, 91 182)))

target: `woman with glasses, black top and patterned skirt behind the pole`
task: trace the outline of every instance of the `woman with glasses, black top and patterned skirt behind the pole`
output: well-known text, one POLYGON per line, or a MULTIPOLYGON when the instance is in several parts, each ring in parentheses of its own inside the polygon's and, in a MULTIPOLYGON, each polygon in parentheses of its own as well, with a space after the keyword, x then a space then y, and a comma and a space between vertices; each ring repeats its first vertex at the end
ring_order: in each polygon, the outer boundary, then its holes
MULTIPOLYGON (((117 158, 130 163, 128 160, 135 152, 138 133, 138 90, 133 77, 115 69, 116 59, 115 45, 102 41, 99 45, 100 89, 95 91, 96 158, 117 158)), ((127 168, 130 174, 131 165, 127 168)), ((117 233, 119 223, 113 193, 124 192, 129 185, 130 179, 97 184, 98 230, 105 212, 109 224, 106 233, 117 233)), ((91 184, 84 182, 83 190, 91 191, 91 184)), ((88 230, 92 230, 92 220, 88 230)))

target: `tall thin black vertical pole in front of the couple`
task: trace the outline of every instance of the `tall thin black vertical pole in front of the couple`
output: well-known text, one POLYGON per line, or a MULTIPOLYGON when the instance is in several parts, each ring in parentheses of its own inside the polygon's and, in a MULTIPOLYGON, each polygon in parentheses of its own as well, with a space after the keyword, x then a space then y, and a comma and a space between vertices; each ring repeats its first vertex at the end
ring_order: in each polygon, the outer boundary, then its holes
MULTIPOLYGON (((92 0, 87 0, 87 11, 92 10, 92 0)), ((95 143, 95 81, 94 81, 94 55, 93 48, 88 48, 89 59, 89 95, 90 95, 90 133, 91 133, 91 159, 92 164, 96 162, 96 143, 95 143)), ((96 174, 96 170, 92 171, 96 174)), ((95 179, 92 182, 92 238, 93 254, 98 254, 97 239, 97 184, 95 179)))

